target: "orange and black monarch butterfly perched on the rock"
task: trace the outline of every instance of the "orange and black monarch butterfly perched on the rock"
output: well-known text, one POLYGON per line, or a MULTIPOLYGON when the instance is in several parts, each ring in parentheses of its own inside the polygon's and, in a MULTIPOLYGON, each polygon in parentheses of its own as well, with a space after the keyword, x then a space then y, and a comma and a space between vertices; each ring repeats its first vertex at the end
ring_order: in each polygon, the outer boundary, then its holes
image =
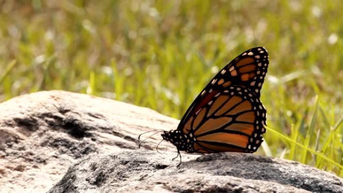
POLYGON ((268 64, 268 53, 263 47, 243 52, 203 89, 176 130, 162 131, 162 140, 177 147, 179 165, 180 151, 257 150, 266 132, 266 110, 259 97, 268 64))

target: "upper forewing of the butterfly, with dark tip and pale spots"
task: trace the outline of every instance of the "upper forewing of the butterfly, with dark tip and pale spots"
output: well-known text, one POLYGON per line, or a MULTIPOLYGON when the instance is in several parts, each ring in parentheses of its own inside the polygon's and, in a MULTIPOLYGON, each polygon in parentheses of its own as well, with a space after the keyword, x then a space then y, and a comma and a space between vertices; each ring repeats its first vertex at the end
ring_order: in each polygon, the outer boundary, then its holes
POLYGON ((181 119, 178 130, 182 131, 187 127, 187 122, 199 109, 210 102, 216 94, 230 86, 245 87, 256 98, 259 98, 268 64, 268 53, 263 47, 252 48, 237 56, 219 71, 193 101, 181 119))

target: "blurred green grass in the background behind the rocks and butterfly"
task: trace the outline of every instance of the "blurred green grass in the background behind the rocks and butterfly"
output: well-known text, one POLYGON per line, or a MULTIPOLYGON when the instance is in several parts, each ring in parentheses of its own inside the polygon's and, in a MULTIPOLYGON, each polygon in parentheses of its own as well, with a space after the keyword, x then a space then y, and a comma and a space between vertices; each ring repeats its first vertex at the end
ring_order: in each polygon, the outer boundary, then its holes
POLYGON ((286 0, 1 1, 0 101, 61 89, 181 118, 219 69, 263 46, 270 66, 261 100, 268 127, 281 135, 267 131, 258 153, 343 176, 342 7, 286 0))

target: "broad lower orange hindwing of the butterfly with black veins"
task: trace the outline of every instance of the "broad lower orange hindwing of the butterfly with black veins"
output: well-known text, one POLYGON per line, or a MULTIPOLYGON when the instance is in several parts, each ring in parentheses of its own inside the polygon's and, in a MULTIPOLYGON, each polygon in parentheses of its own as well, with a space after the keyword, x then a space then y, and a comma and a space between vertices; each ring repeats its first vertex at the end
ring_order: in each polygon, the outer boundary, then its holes
POLYGON ((183 127, 194 137, 200 153, 255 152, 265 133, 266 110, 259 98, 243 86, 217 92, 183 127))

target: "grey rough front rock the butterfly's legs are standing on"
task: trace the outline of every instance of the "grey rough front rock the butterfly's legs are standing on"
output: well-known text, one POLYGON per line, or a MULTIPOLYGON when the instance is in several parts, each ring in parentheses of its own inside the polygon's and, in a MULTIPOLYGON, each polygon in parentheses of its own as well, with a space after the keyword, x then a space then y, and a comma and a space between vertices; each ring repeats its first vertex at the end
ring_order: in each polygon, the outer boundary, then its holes
POLYGON ((217 153, 194 158, 133 150, 90 156, 75 164, 49 193, 62 192, 343 192, 343 180, 278 158, 217 153))

